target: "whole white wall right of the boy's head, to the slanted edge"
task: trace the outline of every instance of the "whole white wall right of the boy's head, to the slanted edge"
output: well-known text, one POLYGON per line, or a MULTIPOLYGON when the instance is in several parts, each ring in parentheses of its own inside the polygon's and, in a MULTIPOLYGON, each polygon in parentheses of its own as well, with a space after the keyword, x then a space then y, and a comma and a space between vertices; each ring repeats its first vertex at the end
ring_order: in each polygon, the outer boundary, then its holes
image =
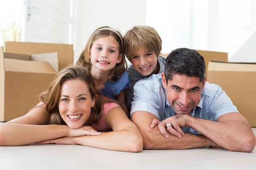
POLYGON ((146 2, 146 24, 160 34, 163 53, 187 47, 227 52, 231 58, 256 31, 255 0, 146 2))

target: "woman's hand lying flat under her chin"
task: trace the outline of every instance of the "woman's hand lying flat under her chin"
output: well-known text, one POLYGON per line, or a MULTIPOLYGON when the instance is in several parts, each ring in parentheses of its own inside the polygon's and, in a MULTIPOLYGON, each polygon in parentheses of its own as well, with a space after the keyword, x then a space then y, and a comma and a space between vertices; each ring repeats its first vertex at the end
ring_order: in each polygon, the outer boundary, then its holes
POLYGON ((78 129, 71 129, 68 128, 68 134, 67 137, 78 137, 78 136, 85 136, 85 135, 101 135, 101 132, 97 132, 94 130, 91 126, 82 126, 78 129))

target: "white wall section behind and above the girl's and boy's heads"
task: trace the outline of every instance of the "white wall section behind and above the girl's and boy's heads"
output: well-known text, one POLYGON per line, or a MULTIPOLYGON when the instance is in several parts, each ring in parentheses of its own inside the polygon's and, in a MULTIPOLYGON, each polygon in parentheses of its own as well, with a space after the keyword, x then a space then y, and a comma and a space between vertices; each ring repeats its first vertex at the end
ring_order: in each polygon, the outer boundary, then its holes
POLYGON ((74 0, 74 62, 91 33, 100 26, 124 35, 134 25, 146 24, 146 0, 74 0))

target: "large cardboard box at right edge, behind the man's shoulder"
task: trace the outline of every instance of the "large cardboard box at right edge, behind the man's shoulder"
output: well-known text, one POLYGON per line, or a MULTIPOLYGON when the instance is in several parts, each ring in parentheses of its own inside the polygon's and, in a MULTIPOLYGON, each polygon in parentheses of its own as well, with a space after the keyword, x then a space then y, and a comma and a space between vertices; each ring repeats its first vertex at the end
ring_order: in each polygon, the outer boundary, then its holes
POLYGON ((209 62, 207 81, 218 84, 238 111, 256 127, 256 64, 209 62))

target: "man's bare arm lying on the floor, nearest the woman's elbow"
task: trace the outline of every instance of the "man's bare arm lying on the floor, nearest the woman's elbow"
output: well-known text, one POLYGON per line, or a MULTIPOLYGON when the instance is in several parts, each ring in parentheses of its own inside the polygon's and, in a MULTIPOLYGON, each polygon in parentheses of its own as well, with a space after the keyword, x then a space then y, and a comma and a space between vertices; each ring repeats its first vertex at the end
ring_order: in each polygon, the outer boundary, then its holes
POLYGON ((219 147, 216 143, 202 135, 185 133, 183 137, 178 138, 169 134, 169 137, 165 138, 157 126, 150 128, 150 124, 154 119, 157 119, 157 117, 146 111, 136 111, 132 113, 131 118, 141 132, 145 149, 189 149, 204 146, 219 147))

